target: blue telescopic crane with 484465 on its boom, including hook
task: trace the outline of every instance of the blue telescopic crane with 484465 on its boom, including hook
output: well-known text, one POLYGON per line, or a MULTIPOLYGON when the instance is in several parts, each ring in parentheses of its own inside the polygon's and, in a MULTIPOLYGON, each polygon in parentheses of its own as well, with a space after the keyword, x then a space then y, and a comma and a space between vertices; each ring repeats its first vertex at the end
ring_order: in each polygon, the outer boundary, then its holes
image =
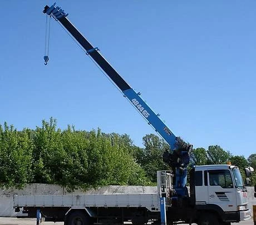
MULTIPOLYGON (((173 132, 161 121, 159 114, 156 114, 140 97, 140 93, 136 93, 134 89, 116 72, 109 62, 101 55, 99 48, 93 47, 90 42, 77 30, 75 26, 67 19, 65 13, 56 3, 51 7, 45 6, 43 13, 53 17, 59 21, 63 27, 76 39, 81 47, 86 51, 86 54, 95 61, 99 67, 109 76, 115 85, 124 94, 124 97, 129 99, 132 105, 146 119, 148 124, 154 127, 155 131, 169 144, 170 151, 166 151, 163 156, 163 161, 168 163, 173 169, 174 189, 178 196, 186 196, 186 177, 189 164, 190 152, 193 148, 191 144, 185 143, 181 138, 176 137, 173 132)), ((48 56, 45 56, 45 64, 47 64, 48 56)))

